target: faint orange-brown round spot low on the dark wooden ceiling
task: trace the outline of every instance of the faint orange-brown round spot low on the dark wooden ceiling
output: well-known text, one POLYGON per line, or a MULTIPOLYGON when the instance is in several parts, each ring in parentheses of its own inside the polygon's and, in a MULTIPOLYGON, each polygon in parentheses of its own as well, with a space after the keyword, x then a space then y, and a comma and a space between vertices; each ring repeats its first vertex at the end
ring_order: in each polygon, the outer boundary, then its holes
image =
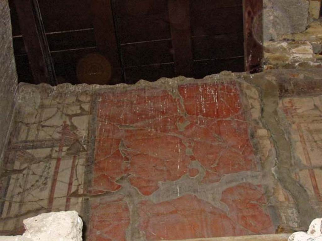
POLYGON ((76 72, 80 83, 108 85, 112 77, 112 66, 103 55, 93 53, 78 62, 76 72))

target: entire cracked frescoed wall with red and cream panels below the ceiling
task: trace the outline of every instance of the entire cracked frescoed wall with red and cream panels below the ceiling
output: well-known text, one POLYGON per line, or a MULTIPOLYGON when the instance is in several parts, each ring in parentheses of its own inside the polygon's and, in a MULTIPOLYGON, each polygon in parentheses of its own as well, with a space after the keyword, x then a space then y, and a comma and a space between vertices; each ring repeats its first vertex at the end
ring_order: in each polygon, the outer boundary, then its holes
POLYGON ((307 229, 322 214, 321 71, 21 84, 1 234, 60 210, 91 241, 307 229))

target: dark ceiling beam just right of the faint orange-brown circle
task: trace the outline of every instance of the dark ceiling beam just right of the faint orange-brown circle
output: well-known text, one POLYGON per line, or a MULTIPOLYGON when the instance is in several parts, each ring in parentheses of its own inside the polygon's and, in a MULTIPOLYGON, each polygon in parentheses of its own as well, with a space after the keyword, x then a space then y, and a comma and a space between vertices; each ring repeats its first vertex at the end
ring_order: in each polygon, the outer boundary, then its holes
POLYGON ((120 68, 121 63, 111 1, 91 0, 93 26, 99 51, 109 60, 113 68, 120 68))

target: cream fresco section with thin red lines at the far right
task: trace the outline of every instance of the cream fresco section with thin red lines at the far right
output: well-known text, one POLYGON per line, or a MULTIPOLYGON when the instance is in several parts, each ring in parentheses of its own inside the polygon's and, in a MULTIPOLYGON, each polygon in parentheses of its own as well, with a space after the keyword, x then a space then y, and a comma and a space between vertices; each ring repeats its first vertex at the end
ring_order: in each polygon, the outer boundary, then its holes
POLYGON ((289 121, 295 179, 311 200, 322 202, 322 96, 290 97, 280 102, 289 121))

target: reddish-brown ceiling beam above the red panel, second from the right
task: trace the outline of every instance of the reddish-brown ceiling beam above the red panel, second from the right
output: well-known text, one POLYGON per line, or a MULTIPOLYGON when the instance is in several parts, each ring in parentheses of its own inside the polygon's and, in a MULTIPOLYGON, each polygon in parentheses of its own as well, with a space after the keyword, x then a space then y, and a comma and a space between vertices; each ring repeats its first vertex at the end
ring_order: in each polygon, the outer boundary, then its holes
POLYGON ((175 74, 193 76, 189 0, 168 0, 175 74))

